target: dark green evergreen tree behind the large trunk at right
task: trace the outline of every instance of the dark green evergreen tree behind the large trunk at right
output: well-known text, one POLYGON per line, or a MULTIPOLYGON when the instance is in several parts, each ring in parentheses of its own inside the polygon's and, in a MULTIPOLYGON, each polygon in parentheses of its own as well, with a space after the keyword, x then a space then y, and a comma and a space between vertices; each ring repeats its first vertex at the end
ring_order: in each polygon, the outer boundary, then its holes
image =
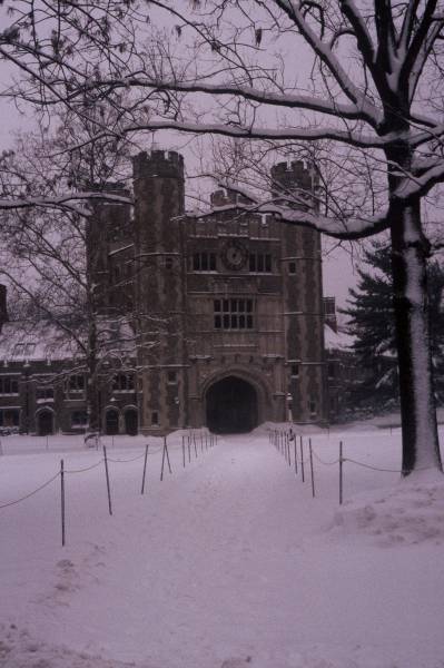
MULTIPOLYGON (((392 410, 399 405, 395 344, 395 320, 391 274, 391 247, 374 242, 365 250, 368 268, 359 269, 356 288, 349 289, 348 332, 355 337, 354 352, 363 370, 363 380, 351 391, 352 405, 362 412, 392 410)), ((431 347, 434 365, 435 396, 444 404, 444 267, 428 264, 428 302, 431 347)))

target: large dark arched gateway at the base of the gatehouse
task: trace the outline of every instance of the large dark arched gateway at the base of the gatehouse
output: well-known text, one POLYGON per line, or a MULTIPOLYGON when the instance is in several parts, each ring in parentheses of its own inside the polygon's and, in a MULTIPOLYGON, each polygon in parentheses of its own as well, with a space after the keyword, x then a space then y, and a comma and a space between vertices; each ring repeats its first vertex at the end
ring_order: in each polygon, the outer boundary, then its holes
POLYGON ((257 426, 255 389, 235 376, 211 385, 207 392, 207 426, 215 433, 249 432, 257 426))

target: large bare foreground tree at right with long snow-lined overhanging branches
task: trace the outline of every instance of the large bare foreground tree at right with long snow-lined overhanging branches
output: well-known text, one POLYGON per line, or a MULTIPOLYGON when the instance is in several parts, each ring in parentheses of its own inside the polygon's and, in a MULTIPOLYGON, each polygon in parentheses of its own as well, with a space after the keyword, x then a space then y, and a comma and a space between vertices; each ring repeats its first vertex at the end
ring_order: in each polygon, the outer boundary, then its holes
MULTIPOLYGON (((339 239, 389 230, 403 472, 442 470, 426 297, 431 244, 421 210, 444 178, 444 126, 441 108, 432 104, 442 82, 442 4, 207 0, 185 3, 180 12, 167 0, 107 0, 93 8, 65 1, 57 9, 62 28, 56 30, 55 23, 55 33, 48 32, 52 3, 41 3, 46 13, 40 22, 26 0, 16 4, 21 8, 16 37, 8 38, 0 53, 26 75, 16 91, 22 99, 75 107, 80 96, 105 99, 125 90, 125 135, 169 128, 249 143, 328 140, 339 158, 347 149, 357 173, 365 156, 359 197, 368 167, 372 183, 376 175, 384 187, 372 187, 361 209, 316 212, 257 197, 245 207, 339 239), (125 16, 117 12, 119 6, 125 16), (87 20, 82 12, 88 9, 87 20), (169 17, 169 40, 165 32, 149 36, 147 30, 147 19, 160 29, 162 11, 169 17), (30 71, 22 65, 23 50, 30 71), (305 59, 305 75, 298 76, 305 59)), ((99 137, 110 135, 105 127, 97 129, 99 137)))

